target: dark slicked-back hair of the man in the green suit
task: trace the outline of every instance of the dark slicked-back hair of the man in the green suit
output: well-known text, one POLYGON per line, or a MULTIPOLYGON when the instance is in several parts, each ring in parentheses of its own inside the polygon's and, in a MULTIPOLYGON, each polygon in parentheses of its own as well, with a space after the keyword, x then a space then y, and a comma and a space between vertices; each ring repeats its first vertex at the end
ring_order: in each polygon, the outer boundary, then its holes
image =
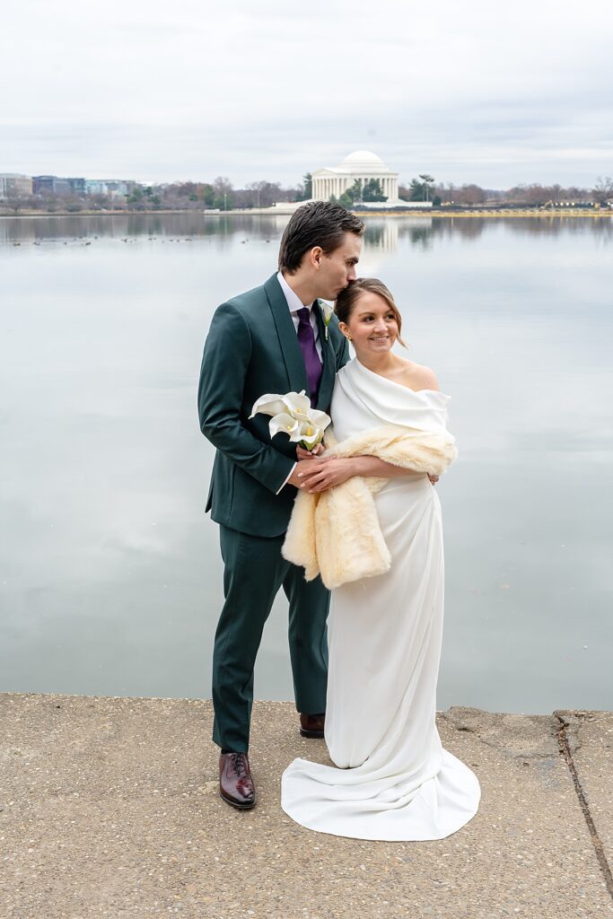
POLYGON ((305 253, 319 245, 330 255, 343 243, 345 233, 364 233, 364 223, 341 204, 310 201, 291 216, 278 250, 278 270, 293 274, 305 253))

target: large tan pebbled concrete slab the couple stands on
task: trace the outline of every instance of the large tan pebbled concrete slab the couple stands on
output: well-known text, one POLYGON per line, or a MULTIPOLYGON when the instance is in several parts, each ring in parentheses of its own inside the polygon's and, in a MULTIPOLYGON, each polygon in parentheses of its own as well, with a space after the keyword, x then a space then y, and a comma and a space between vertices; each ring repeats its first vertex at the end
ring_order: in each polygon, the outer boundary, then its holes
POLYGON ((255 704, 258 804, 233 811, 211 718, 210 702, 0 696, 3 919, 613 916, 552 716, 441 714, 482 806, 448 839, 405 844, 315 834, 280 810, 291 759, 327 759, 285 702, 255 704))

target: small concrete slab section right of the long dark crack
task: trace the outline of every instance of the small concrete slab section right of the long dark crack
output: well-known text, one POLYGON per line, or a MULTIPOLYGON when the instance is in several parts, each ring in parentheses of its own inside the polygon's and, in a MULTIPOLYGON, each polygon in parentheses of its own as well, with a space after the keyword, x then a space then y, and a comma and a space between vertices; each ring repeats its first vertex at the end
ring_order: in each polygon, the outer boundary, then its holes
POLYGON ((613 712, 556 714, 567 725, 577 778, 608 866, 613 868, 613 712))

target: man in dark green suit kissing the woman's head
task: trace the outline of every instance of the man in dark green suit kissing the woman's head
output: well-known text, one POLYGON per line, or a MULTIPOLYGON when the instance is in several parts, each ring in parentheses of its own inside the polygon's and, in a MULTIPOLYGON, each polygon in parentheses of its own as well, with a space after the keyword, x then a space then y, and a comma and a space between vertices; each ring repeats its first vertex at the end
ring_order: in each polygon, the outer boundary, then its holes
POLYGON ((221 747, 221 798, 255 804, 249 723, 255 656, 279 587, 289 600, 289 654, 301 734, 324 736, 326 617, 330 595, 307 584, 281 546, 301 471, 296 447, 270 439, 268 418, 250 418, 268 392, 305 390, 313 407, 330 406, 336 371, 348 360, 334 301, 356 278, 364 224, 338 204, 312 201, 295 211, 278 255, 278 274, 222 303, 210 324, 199 382, 200 429, 217 448, 207 510, 220 525, 225 603, 215 633, 213 741, 221 747))

